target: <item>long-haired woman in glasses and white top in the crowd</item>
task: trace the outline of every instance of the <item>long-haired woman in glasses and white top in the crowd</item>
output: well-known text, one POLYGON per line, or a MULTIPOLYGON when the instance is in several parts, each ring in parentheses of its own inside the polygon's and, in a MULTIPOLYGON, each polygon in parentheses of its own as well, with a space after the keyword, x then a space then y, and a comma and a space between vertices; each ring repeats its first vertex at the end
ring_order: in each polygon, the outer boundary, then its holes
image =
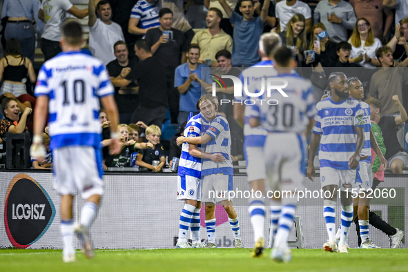
POLYGON ((358 63, 366 68, 381 66, 380 61, 376 59, 376 51, 382 46, 382 43, 374 37, 373 29, 367 19, 357 20, 349 43, 351 44, 349 62, 358 63))

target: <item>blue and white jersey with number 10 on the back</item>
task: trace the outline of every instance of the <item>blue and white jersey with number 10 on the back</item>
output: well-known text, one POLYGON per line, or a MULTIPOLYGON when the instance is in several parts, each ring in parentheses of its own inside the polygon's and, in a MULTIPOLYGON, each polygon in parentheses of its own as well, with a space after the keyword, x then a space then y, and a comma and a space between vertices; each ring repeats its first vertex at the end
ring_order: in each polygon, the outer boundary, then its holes
POLYGON ((46 95, 50 99, 50 148, 99 148, 99 99, 114 91, 99 59, 80 52, 64 52, 46 61, 39 70, 35 96, 46 95))

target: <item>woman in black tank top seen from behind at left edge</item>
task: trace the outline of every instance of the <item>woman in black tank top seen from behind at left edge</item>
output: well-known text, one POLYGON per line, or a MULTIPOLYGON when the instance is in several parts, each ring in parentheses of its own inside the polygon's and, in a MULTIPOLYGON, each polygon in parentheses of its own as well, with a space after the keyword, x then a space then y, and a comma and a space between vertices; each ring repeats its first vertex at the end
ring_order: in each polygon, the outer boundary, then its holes
POLYGON ((34 84, 37 80, 30 59, 21 55, 20 43, 17 39, 7 41, 4 54, 6 57, 0 59, 0 79, 4 80, 0 95, 12 93, 19 97, 26 94, 27 74, 31 83, 34 84))

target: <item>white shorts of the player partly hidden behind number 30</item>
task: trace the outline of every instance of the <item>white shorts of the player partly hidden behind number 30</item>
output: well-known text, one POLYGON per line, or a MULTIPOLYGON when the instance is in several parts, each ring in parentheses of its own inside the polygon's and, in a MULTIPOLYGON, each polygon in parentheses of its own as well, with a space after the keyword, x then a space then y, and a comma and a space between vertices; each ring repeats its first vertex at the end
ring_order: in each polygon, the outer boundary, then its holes
POLYGON ((246 152, 246 175, 248 182, 266 179, 264 148, 262 146, 248 146, 246 152))

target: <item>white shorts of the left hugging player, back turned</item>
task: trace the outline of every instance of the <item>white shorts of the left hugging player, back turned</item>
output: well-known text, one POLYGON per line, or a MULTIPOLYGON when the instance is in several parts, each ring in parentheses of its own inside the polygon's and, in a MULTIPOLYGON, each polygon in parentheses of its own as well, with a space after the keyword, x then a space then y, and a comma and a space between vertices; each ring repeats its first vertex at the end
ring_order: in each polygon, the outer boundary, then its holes
POLYGON ((177 200, 201 201, 202 179, 191 175, 177 175, 177 200))

